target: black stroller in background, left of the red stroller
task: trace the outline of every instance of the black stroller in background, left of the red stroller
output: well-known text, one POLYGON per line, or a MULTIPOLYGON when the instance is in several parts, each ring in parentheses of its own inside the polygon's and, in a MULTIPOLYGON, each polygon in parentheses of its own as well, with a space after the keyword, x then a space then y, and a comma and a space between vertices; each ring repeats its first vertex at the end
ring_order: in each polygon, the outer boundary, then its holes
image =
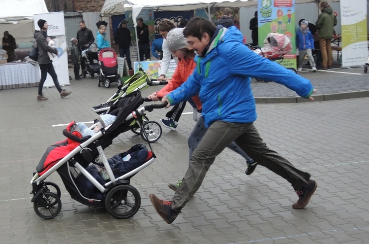
POLYGON ((86 64, 86 70, 82 70, 82 76, 86 78, 86 75, 90 74, 90 77, 93 78, 95 73, 100 72, 97 45, 96 43, 89 43, 89 47, 82 46, 81 50, 82 59, 86 64))

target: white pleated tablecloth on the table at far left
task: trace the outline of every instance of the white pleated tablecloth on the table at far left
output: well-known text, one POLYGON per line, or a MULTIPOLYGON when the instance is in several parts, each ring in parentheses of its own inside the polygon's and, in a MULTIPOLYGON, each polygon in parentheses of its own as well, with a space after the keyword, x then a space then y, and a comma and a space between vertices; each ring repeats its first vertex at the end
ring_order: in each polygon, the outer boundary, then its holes
POLYGON ((40 69, 30 63, 0 65, 0 90, 38 86, 40 69))

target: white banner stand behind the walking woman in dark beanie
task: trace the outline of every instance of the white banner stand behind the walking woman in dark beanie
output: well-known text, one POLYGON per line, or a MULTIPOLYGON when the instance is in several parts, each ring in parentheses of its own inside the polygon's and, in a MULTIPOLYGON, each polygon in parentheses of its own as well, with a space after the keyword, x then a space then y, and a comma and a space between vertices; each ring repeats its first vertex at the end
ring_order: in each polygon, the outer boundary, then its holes
MULTIPOLYGON (((66 51, 66 37, 64 27, 64 13, 53 12, 34 15, 34 29, 40 30, 37 25, 39 19, 46 20, 48 24, 47 35, 52 37, 58 49, 58 57, 54 58, 53 65, 61 86, 69 85, 68 52, 66 51)), ((54 81, 48 74, 43 87, 55 87, 54 81)))

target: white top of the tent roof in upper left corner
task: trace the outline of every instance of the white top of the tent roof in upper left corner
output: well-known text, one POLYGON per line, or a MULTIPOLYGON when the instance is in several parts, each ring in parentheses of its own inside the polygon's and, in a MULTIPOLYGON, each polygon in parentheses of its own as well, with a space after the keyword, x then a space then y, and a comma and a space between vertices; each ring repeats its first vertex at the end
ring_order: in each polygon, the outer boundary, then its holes
POLYGON ((1 0, 0 22, 33 19, 33 14, 48 13, 44 0, 1 0), (6 7, 4 7, 6 6, 6 7))

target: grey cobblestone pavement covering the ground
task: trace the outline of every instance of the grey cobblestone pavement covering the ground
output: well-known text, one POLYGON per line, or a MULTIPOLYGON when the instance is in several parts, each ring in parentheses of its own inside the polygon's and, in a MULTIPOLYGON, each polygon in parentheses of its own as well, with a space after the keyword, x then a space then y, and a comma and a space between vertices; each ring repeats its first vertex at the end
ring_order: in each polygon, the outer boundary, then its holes
MULTIPOLYGON (((311 77, 317 94, 369 90, 369 76, 360 74, 362 69, 338 71, 346 73, 301 75, 311 77)), ((255 97, 289 95, 274 83, 253 81, 252 86, 255 97)), ((71 80, 67 89, 72 94, 64 99, 55 88, 44 89, 48 101, 36 101, 37 88, 0 90, 1 244, 368 243, 369 98, 257 104, 255 126, 265 142, 318 182, 305 209, 292 209, 297 196, 283 178, 260 166, 247 176, 243 158, 225 149, 175 222, 166 224, 149 194, 170 199, 174 192, 168 183, 186 171, 187 137, 194 125, 186 106, 177 130, 163 128, 152 144, 156 161, 131 179, 142 198, 132 218, 115 219, 105 209, 75 202, 55 172, 48 179, 62 188, 62 211, 54 219, 41 219, 29 194, 32 172, 46 148, 64 139, 63 124, 92 121, 96 114, 90 107, 105 102, 115 87, 97 87, 90 78, 71 80)), ((147 116, 159 121, 166 111, 155 109, 147 116)), ((137 143, 143 143, 141 137, 125 132, 105 153, 110 157, 137 143)))

